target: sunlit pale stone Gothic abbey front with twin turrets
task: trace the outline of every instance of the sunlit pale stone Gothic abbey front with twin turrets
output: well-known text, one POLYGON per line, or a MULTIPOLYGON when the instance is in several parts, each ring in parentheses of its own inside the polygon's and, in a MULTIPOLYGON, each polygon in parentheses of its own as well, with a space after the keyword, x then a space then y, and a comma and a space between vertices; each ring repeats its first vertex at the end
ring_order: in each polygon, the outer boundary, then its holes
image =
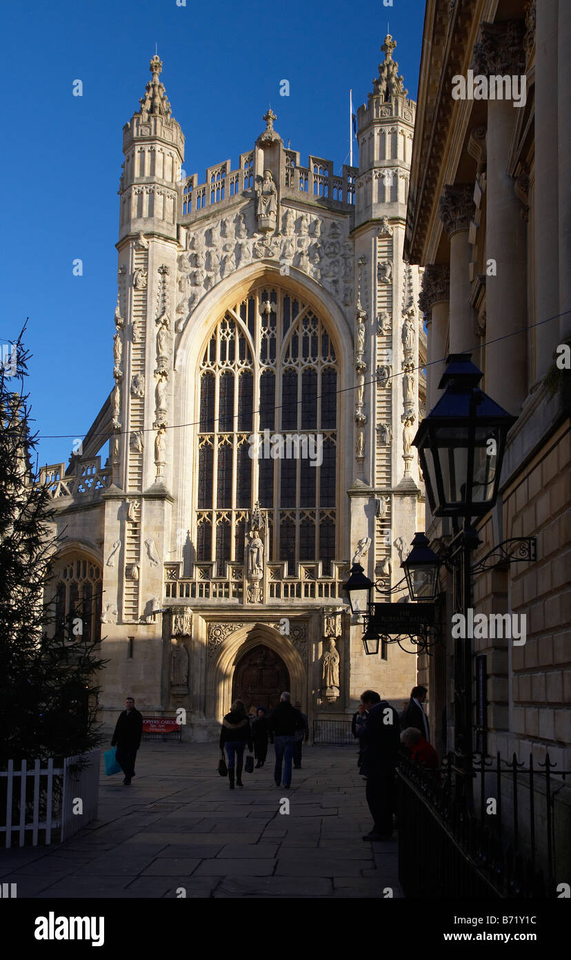
POLYGON ((414 682, 396 644, 365 656, 341 592, 354 557, 398 583, 423 516, 425 337, 402 258, 415 104, 395 46, 340 176, 303 166, 269 109, 237 166, 181 179, 150 61, 124 128, 113 389, 80 455, 43 474, 58 615, 103 588, 103 719, 128 693, 186 708, 199 738, 236 696, 286 688, 331 719, 365 686, 400 704, 414 682))

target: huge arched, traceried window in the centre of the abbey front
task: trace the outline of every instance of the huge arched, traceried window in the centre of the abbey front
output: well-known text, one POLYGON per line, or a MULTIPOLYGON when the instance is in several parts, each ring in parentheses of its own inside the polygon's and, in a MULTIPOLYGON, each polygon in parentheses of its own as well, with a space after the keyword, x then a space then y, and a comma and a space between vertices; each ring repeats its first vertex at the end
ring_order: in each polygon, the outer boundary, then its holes
POLYGON ((285 289, 259 287, 226 311, 199 370, 198 563, 214 561, 217 576, 226 562, 243 564, 247 512, 260 501, 270 562, 285 563, 293 576, 298 563, 321 561, 330 574, 338 386, 323 320, 285 289), (252 434, 262 442, 258 456, 252 434), (269 455, 278 452, 277 434, 289 458, 269 455), (296 449, 306 456, 295 457, 296 449))

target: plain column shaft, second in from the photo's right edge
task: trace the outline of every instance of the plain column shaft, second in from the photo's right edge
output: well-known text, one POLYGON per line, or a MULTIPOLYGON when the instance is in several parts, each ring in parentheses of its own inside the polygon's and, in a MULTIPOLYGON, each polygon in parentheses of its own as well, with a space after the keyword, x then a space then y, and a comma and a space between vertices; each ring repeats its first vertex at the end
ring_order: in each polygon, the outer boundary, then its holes
MULTIPOLYGON (((564 4, 562 6, 565 6, 564 4)), ((537 4, 536 43, 536 180, 534 204, 536 316, 535 323, 560 313, 558 195, 558 0, 537 4)), ((568 57, 567 51, 564 57, 568 57)), ((559 91, 564 100, 568 89, 559 91)), ((561 108, 565 107, 563 104, 561 108)), ((567 189, 569 186, 567 184, 567 189)), ((568 210, 566 215, 568 216, 568 210)), ((568 272, 568 263, 565 271, 568 272)), ((567 304, 568 306, 568 304, 567 304)), ((559 321, 541 324, 536 337, 536 377, 545 376, 559 343, 559 321)))

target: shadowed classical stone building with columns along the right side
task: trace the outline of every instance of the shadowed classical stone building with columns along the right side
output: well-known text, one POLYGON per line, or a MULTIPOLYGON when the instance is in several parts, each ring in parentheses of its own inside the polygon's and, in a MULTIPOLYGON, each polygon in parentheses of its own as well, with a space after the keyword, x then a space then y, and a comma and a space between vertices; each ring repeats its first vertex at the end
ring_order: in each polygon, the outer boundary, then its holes
MULTIPOLYGON (((535 562, 499 564, 474 578, 474 612, 524 616, 527 636, 517 645, 474 636, 473 747, 526 764, 531 753, 538 770, 549 752, 556 777, 571 769, 571 374, 556 363, 571 335, 570 13, 558 0, 541 0, 537 9, 535 0, 428 0, 404 246, 410 262, 425 268, 427 408, 441 396, 446 354, 471 351, 482 388, 517 417, 498 503, 478 524, 474 562, 503 540, 537 538, 535 562), (468 79, 470 69, 486 82, 516 78, 525 97, 519 106, 513 96, 455 99, 455 78, 468 79)), ((449 521, 427 514, 426 533, 442 549, 449 521)), ((419 679, 429 688, 437 746, 452 750, 449 576, 447 594, 445 648, 421 659, 419 679)), ((535 803, 544 825, 540 784, 537 778, 535 803)), ((509 828, 510 778, 502 793, 509 828)), ((557 793, 562 865, 569 791, 557 793)), ((520 816, 525 831, 528 811, 520 816)), ((543 854, 545 842, 537 826, 543 854)))

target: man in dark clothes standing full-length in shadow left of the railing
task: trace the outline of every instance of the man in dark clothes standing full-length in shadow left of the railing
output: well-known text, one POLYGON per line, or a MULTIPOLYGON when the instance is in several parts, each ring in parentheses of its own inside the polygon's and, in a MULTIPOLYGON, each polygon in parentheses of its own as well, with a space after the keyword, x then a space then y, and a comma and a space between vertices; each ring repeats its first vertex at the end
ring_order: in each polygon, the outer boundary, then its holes
POLYGON ((399 714, 375 690, 365 690, 361 703, 367 711, 366 720, 356 733, 362 747, 361 773, 367 778, 365 796, 373 817, 373 829, 363 840, 390 840, 400 749, 399 714))

